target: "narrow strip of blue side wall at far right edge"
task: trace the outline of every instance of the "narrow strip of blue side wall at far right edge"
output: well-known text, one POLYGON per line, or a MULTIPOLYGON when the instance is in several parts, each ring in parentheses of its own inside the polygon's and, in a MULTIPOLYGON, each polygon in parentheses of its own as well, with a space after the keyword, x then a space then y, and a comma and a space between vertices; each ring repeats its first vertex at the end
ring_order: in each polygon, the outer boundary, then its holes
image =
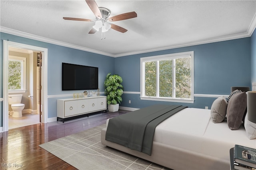
POLYGON ((252 82, 256 82, 256 29, 251 36, 251 67, 252 82))

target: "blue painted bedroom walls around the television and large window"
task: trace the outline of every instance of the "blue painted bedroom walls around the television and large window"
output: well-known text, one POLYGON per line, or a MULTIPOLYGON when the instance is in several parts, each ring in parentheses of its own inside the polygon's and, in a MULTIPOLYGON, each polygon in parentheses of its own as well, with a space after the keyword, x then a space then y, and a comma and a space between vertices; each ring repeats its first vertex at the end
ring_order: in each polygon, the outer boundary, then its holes
MULTIPOLYGON (((194 93, 195 94, 230 94, 231 86, 250 86, 256 82, 256 33, 250 38, 215 42, 170 50, 162 50, 112 58, 92 52, 76 50, 46 42, 32 40, 11 34, 0 33, 0 82, 3 80, 3 40, 48 48, 48 118, 56 117, 56 100, 62 94, 76 91, 61 90, 61 63, 73 63, 99 68, 99 88, 104 91, 103 82, 106 74, 119 74, 123 78, 125 92, 120 106, 142 108, 152 104, 182 104, 189 107, 204 108, 212 105, 215 98, 195 97, 194 104, 155 102, 140 100, 140 58, 194 51, 194 93), (251 51, 252 49, 252 51, 251 51), (252 57, 251 57, 252 56, 252 57), (252 64, 250 64, 252 62, 252 64), (54 96, 57 97, 54 97, 54 96), (52 97, 53 96, 53 97, 52 97), (128 103, 131 100, 131 104, 128 103)), ((2 94, 0 84, 0 98, 2 94)), ((0 102, 0 127, 2 126, 2 102, 0 102)))

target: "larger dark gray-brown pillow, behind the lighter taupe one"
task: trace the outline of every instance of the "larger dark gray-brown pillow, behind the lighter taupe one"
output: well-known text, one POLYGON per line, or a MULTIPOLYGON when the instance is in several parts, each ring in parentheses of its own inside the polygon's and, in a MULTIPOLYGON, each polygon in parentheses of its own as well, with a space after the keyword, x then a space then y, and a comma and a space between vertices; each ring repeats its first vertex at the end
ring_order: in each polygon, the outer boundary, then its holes
POLYGON ((247 107, 247 94, 245 92, 234 94, 227 107, 227 122, 231 130, 237 130, 242 124, 242 119, 247 107))

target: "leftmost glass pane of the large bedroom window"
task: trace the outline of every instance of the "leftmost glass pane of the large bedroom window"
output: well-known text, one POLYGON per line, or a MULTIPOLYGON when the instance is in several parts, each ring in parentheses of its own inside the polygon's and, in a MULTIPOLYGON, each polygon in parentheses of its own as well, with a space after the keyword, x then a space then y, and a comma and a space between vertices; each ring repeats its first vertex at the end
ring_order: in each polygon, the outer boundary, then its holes
POLYGON ((156 62, 145 62, 145 96, 156 96, 156 62))

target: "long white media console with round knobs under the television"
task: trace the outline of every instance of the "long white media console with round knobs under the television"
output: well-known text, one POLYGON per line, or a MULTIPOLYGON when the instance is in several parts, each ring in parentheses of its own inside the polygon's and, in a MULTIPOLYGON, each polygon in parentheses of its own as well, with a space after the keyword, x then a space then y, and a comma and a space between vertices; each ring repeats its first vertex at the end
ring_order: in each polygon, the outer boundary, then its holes
POLYGON ((107 110, 106 96, 65 98, 57 100, 57 121, 65 118, 107 110))

